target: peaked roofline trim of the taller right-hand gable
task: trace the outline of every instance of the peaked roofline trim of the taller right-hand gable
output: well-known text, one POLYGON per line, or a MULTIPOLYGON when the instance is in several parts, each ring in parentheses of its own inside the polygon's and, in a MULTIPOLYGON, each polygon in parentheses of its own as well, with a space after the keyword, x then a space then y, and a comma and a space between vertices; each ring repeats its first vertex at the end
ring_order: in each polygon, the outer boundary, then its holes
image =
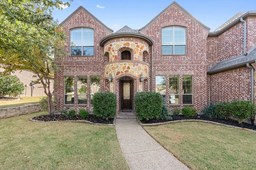
POLYGON ((187 16, 189 16, 192 20, 194 20, 196 23, 198 23, 198 25, 202 26, 204 29, 207 29, 208 31, 210 31, 210 28, 207 27, 206 25, 204 25, 202 22, 200 22, 199 20, 197 20, 196 18, 194 18, 194 16, 192 16, 187 10, 185 10, 182 6, 180 6, 176 1, 172 2, 169 6, 167 6, 164 10, 162 10, 162 12, 160 12, 155 18, 153 18, 149 23, 147 23, 144 27, 142 27, 141 29, 139 29, 139 31, 143 31, 144 29, 146 29, 146 27, 148 27, 151 23, 153 23, 155 20, 157 20, 162 14, 164 14, 164 12, 166 12, 169 8, 171 8, 172 6, 176 6, 177 8, 179 8, 182 12, 184 12, 187 16))

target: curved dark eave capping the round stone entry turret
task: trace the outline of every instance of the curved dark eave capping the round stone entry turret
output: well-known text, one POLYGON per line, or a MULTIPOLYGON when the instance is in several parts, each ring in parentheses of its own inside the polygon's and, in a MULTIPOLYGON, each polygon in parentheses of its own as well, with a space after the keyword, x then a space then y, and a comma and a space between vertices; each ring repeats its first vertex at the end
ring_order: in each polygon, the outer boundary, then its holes
POLYGON ((146 35, 143 35, 143 34, 140 34, 140 33, 114 33, 114 34, 111 34, 111 35, 108 35, 108 36, 102 38, 100 40, 100 46, 103 47, 104 44, 108 40, 113 39, 113 38, 118 38, 118 37, 136 37, 136 38, 141 38, 141 39, 146 40, 148 45, 150 45, 150 46, 153 45, 153 40, 150 37, 148 37, 146 35))

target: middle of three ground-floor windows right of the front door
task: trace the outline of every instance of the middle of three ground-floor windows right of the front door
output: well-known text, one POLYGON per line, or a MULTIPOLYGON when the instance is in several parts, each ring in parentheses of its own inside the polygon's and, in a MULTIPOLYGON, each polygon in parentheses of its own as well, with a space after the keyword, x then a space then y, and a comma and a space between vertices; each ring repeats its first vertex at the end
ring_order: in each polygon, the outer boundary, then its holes
POLYGON ((169 76, 169 104, 180 104, 180 76, 169 76))

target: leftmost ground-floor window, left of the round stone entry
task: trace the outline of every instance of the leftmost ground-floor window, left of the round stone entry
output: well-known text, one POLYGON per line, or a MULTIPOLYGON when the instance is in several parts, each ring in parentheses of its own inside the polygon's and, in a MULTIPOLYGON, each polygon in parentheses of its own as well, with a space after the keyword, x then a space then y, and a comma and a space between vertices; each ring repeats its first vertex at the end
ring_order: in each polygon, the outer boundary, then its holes
POLYGON ((74 104, 74 77, 64 77, 64 104, 74 104))

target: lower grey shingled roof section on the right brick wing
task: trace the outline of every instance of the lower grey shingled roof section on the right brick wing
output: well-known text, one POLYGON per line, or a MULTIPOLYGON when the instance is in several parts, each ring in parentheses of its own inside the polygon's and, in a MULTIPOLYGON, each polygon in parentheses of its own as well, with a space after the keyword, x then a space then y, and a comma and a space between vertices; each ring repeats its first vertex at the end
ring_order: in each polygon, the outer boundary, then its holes
POLYGON ((214 64, 211 68, 207 70, 208 74, 213 74, 216 72, 221 72, 224 70, 230 70, 232 68, 237 68, 240 66, 245 66, 247 63, 255 63, 256 60, 256 46, 254 46, 247 55, 238 55, 231 59, 220 61, 214 64))

